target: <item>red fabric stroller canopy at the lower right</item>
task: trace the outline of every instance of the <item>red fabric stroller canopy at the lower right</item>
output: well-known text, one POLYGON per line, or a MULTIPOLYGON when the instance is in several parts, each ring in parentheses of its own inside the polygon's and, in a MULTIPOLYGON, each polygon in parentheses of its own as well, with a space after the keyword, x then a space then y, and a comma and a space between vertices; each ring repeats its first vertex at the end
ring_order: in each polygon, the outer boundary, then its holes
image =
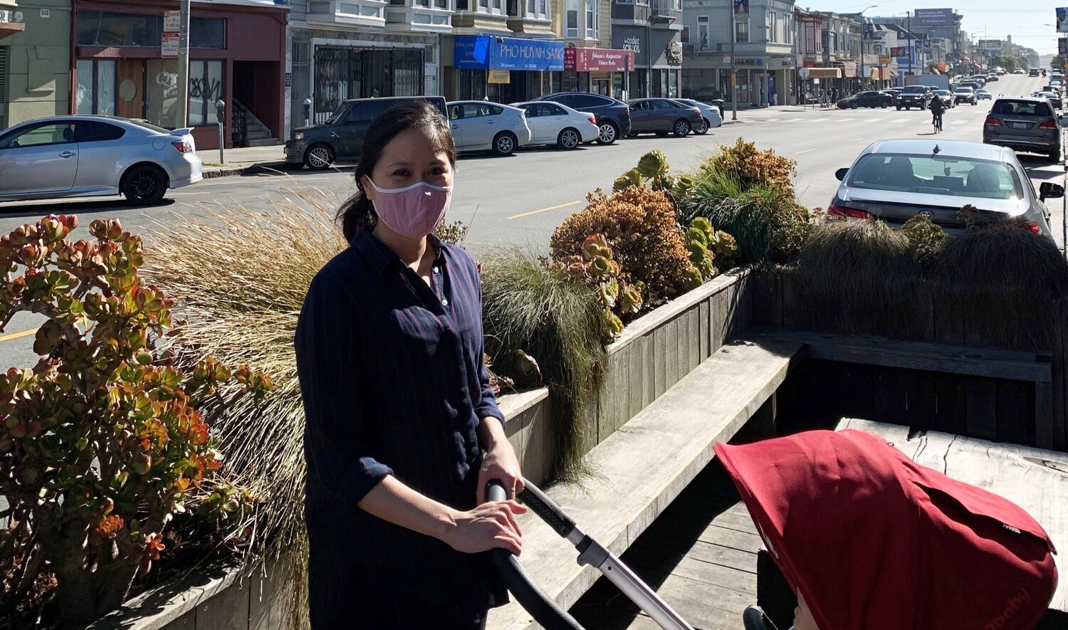
POLYGON ((716 454, 820 630, 1025 630, 1056 552, 1016 504, 865 431, 807 431, 716 454))

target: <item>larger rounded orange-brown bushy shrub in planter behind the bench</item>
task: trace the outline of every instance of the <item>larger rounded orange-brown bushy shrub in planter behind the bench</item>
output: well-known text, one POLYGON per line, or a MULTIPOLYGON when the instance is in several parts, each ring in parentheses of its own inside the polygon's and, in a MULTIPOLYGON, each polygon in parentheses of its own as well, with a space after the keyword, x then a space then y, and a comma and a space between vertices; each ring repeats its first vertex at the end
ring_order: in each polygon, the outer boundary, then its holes
POLYGON ((675 206, 664 192, 629 186, 611 195, 597 190, 586 200, 585 208, 553 232, 549 242, 554 261, 581 255, 586 237, 601 234, 612 243, 621 278, 644 287, 647 306, 660 305, 701 284, 675 206))

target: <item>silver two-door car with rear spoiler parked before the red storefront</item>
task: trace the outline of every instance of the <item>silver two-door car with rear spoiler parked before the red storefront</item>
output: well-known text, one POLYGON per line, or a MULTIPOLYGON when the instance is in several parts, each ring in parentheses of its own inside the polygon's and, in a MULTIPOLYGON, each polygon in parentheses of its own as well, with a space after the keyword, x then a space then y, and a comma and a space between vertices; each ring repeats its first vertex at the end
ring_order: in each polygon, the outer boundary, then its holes
POLYGON ((158 203, 203 178, 190 132, 94 115, 15 125, 0 132, 0 201, 122 193, 158 203))

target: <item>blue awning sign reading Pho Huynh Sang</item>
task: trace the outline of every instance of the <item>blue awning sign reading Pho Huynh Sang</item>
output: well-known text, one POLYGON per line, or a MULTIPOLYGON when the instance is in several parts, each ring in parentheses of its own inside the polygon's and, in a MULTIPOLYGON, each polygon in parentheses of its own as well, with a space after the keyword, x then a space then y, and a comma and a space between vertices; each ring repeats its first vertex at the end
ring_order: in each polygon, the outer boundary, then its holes
POLYGON ((460 35, 453 66, 467 70, 563 70, 564 43, 516 37, 460 35))

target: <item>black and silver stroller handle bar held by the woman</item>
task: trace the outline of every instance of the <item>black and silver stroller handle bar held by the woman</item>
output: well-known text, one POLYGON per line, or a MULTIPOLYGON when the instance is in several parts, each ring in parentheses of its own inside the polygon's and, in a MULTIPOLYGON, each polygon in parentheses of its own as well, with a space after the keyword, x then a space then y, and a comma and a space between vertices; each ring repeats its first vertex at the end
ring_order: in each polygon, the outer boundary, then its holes
MULTIPOLYGON (((527 479, 523 479, 523 485, 524 489, 518 498, 534 514, 545 520, 556 534, 575 546, 579 552, 578 563, 580 565, 590 565, 600 571, 661 628, 665 630, 693 630, 692 626, 660 599, 655 590, 642 582, 641 578, 627 565, 623 564, 623 561, 579 530, 575 521, 564 514, 564 510, 551 499, 546 497, 537 486, 527 479)), ((490 482, 486 488, 486 497, 490 501, 504 501, 507 499, 507 491, 500 482, 490 482)), ((534 620, 546 630, 582 630, 582 626, 578 621, 566 611, 561 610, 548 595, 530 581, 530 576, 523 570, 516 556, 504 549, 492 550, 491 556, 493 565, 508 590, 516 596, 516 599, 534 617, 534 620)))

